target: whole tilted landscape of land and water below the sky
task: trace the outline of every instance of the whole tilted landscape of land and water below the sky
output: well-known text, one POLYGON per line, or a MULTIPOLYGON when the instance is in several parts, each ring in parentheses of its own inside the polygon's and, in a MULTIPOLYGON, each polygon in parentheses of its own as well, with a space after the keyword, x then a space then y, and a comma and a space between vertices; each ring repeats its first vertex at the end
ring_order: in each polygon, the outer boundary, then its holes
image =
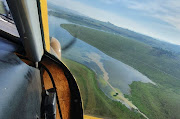
MULTIPOLYGON (((50 35, 75 76, 85 115, 180 118, 180 46, 48 3, 50 35)), ((87 116, 88 118, 88 116, 87 116)))

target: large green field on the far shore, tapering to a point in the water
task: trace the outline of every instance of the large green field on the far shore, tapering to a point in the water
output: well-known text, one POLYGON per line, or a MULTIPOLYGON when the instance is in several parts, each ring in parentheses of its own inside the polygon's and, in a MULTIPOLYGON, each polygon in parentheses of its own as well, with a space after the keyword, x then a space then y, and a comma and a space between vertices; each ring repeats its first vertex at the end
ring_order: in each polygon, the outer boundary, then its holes
MULTIPOLYGON (((151 119, 180 118, 180 56, 142 42, 77 25, 61 25, 71 35, 128 64, 157 86, 134 82, 126 95, 151 119)), ((86 77, 87 78, 87 77, 86 77)))

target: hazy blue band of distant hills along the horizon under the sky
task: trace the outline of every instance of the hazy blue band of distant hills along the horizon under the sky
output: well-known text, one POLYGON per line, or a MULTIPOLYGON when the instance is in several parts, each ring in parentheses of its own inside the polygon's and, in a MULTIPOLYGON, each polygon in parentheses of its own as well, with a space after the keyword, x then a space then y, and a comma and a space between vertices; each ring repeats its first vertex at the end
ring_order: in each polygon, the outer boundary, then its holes
POLYGON ((112 24, 110 22, 102 22, 99 20, 95 20, 95 19, 92 19, 90 17, 87 17, 85 15, 82 15, 76 11, 73 11, 73 10, 70 10, 67 8, 59 7, 59 6, 50 4, 50 3, 48 3, 48 6, 51 9, 51 10, 49 10, 49 15, 60 17, 60 18, 66 19, 70 22, 84 25, 87 27, 111 32, 114 34, 119 34, 124 37, 138 40, 138 41, 143 42, 152 47, 156 47, 156 48, 160 48, 163 50, 171 51, 173 53, 180 54, 180 46, 179 45, 164 42, 164 41, 152 38, 150 36, 146 36, 146 35, 143 35, 143 34, 140 34, 140 33, 125 29, 125 28, 121 28, 121 27, 115 26, 114 24, 112 24))

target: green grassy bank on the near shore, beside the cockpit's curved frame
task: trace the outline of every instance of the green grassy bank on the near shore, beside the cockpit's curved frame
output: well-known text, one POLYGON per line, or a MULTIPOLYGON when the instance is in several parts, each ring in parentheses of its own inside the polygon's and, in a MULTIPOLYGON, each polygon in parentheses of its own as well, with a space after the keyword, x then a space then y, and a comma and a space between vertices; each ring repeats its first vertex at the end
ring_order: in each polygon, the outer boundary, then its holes
POLYGON ((83 99, 85 114, 113 119, 140 119, 139 113, 130 111, 120 102, 109 99, 98 87, 95 73, 77 62, 63 59, 76 77, 83 99))

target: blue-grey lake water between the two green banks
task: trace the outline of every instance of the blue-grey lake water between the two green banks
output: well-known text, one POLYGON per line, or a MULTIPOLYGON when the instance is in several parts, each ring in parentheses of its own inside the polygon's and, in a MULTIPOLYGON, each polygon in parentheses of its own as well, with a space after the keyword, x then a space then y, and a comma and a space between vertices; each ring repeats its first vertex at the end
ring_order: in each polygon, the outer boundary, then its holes
MULTIPOLYGON (((73 39, 69 32, 60 27, 60 24, 68 23, 70 22, 49 16, 50 35, 57 38, 62 47, 73 39)), ((104 77, 104 80, 108 80, 112 87, 119 89, 123 94, 130 93, 129 85, 133 81, 155 84, 134 68, 107 56, 97 48, 79 39, 77 39, 73 47, 64 52, 62 51, 62 57, 77 61, 91 68, 99 78, 104 77)), ((102 90, 104 91, 104 89, 102 90)), ((106 95, 109 95, 106 91, 104 92, 106 95)))

